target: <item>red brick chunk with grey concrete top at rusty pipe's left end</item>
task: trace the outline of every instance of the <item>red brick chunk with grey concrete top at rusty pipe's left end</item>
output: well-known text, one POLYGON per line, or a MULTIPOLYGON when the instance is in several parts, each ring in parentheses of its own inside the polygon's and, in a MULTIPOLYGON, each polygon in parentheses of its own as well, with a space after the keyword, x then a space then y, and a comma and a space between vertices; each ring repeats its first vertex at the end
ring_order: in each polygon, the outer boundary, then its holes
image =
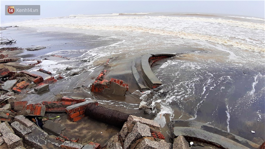
POLYGON ((65 112, 68 115, 68 119, 70 119, 73 122, 76 122, 84 118, 85 108, 87 107, 88 104, 99 105, 99 103, 96 100, 84 101, 81 103, 71 105, 65 108, 65 112))

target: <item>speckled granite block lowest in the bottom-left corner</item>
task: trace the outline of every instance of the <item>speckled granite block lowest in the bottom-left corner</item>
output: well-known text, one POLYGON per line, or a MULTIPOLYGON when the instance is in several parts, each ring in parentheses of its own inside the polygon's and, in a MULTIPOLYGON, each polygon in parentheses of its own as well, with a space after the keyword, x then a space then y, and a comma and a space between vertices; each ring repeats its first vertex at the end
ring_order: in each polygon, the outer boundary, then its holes
POLYGON ((23 146, 22 139, 13 133, 4 134, 3 140, 7 143, 7 147, 11 149, 23 146))

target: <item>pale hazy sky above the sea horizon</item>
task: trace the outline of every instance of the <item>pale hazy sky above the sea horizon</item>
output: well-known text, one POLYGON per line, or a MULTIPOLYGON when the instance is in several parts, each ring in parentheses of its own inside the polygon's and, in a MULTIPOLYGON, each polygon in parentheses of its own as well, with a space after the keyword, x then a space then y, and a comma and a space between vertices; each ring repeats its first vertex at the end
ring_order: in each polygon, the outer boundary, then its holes
POLYGON ((263 1, 0 1, 1 25, 71 14, 132 12, 219 13, 264 18, 263 1), (41 5, 40 16, 5 16, 5 5, 41 5))

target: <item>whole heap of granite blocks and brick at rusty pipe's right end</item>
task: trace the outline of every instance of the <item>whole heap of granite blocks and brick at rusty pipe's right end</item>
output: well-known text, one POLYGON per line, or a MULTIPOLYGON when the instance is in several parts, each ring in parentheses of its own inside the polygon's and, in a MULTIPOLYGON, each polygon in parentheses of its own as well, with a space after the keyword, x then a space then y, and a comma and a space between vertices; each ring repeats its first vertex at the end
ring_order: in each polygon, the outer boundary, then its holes
POLYGON ((158 130, 160 130, 160 125, 158 123, 149 119, 130 115, 127 122, 124 123, 120 133, 113 136, 108 141, 106 148, 171 149, 172 144, 167 143, 164 140, 165 137, 160 132, 156 132, 158 130))

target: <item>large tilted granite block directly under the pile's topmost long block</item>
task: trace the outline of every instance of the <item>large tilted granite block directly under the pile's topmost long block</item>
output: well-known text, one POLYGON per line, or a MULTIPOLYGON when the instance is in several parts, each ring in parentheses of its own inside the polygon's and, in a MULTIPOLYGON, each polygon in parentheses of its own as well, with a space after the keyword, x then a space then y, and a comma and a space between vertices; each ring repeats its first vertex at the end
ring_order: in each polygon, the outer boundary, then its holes
POLYGON ((138 139, 142 137, 151 137, 151 136, 152 135, 150 132, 150 128, 145 124, 137 122, 132 128, 132 132, 130 132, 126 137, 124 141, 124 148, 129 149, 130 146, 138 139))

